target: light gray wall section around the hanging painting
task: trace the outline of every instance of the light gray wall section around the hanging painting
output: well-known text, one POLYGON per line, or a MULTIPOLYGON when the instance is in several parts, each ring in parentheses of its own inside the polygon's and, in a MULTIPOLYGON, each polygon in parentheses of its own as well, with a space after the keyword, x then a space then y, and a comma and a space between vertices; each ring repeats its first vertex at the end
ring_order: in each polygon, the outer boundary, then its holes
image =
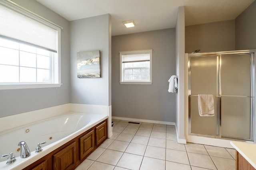
POLYGON ((105 14, 70 23, 70 103, 111 105, 110 20, 110 15, 105 14), (101 78, 77 78, 76 53, 91 50, 100 50, 102 76, 101 78))

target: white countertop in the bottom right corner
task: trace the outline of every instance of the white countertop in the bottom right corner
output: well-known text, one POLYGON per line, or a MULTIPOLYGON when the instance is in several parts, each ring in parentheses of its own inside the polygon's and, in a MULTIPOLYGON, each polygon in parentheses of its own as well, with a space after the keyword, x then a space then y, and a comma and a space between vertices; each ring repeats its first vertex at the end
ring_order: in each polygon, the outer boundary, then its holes
POLYGON ((230 144, 256 169, 256 144, 236 141, 230 144))

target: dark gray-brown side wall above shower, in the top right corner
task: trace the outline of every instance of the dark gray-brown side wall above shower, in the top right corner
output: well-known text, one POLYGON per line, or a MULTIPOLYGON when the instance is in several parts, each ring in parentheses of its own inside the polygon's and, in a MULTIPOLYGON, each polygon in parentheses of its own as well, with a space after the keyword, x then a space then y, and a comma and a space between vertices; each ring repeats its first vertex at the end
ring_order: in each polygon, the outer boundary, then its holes
POLYGON ((236 50, 256 49, 256 1, 236 18, 236 50))

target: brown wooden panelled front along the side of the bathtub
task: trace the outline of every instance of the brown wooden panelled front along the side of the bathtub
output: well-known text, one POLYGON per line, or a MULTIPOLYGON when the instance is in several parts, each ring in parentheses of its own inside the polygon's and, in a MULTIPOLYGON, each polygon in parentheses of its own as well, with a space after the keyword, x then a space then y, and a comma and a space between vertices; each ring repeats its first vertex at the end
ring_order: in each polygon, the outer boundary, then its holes
POLYGON ((23 170, 74 170, 107 139, 107 124, 105 119, 23 170))

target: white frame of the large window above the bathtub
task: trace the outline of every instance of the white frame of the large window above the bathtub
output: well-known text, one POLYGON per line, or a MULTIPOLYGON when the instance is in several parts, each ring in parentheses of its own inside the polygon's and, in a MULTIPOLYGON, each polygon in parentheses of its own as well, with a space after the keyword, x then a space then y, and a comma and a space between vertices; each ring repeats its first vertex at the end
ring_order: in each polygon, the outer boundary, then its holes
POLYGON ((8 90, 8 89, 25 89, 25 88, 57 88, 60 87, 62 85, 61 83, 61 60, 60 60, 60 35, 61 35, 61 29, 62 27, 52 23, 51 21, 48 21, 44 18, 42 18, 41 16, 38 16, 37 14, 15 4, 14 2, 11 2, 9 0, 0 0, 0 4, 3 6, 6 6, 16 12, 19 12, 29 18, 32 18, 38 22, 41 22, 45 25, 48 25, 54 29, 57 30, 58 32, 58 49, 57 49, 57 54, 54 55, 54 57, 52 57, 52 64, 54 65, 54 67, 52 67, 51 72, 52 72, 52 76, 54 76, 54 78, 52 79, 51 83, 0 83, 0 90, 8 90), (57 64, 55 64, 58 61, 57 64))

